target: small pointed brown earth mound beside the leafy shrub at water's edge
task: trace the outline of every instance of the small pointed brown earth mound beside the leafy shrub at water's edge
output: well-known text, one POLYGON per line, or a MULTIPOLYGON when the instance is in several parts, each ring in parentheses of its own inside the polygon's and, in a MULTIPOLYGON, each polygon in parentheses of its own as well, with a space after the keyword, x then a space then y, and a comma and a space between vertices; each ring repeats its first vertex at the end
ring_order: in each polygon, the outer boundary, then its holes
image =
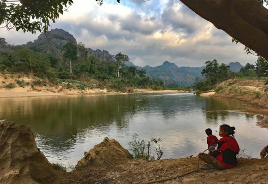
POLYGON ((76 168, 90 166, 92 164, 110 163, 130 159, 132 155, 123 148, 115 139, 105 137, 103 142, 93 149, 85 152, 85 157, 78 161, 76 168))

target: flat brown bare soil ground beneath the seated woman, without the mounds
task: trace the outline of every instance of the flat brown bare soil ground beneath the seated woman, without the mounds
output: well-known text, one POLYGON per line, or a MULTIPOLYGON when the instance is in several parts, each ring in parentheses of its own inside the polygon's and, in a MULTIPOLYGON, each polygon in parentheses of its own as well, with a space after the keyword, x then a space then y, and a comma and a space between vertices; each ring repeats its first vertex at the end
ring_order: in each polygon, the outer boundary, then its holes
MULTIPOLYGON (((197 163, 197 158, 160 161, 128 160, 61 173, 52 183, 148 183, 195 170, 197 163)), ((204 163, 199 162, 199 165, 202 166, 204 163)), ((268 183, 266 169, 268 169, 268 159, 239 159, 238 167, 233 169, 199 170, 160 183, 268 183)))

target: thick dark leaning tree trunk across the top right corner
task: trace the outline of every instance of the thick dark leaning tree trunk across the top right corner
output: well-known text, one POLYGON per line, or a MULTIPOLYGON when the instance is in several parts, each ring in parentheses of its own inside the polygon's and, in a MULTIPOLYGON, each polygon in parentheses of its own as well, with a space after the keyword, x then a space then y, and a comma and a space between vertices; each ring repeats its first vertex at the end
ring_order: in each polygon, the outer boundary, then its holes
POLYGON ((253 0, 181 0, 217 28, 268 59, 268 10, 253 0))

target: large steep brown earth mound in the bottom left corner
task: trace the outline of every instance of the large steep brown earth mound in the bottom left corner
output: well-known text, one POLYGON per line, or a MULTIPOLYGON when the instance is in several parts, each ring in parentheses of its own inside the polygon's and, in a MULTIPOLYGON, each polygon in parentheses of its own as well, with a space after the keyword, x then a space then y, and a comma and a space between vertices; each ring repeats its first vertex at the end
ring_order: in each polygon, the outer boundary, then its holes
POLYGON ((53 175, 30 127, 0 120, 0 183, 37 183, 53 175))

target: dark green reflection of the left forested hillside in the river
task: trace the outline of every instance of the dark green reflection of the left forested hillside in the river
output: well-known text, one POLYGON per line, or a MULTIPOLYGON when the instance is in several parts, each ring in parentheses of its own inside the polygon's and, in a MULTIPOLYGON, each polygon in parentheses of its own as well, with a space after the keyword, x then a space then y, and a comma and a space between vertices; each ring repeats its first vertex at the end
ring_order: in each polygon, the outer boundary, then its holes
POLYGON ((146 106, 133 95, 1 99, 0 119, 30 126, 44 145, 71 148, 88 129, 127 127, 127 118, 146 106))

